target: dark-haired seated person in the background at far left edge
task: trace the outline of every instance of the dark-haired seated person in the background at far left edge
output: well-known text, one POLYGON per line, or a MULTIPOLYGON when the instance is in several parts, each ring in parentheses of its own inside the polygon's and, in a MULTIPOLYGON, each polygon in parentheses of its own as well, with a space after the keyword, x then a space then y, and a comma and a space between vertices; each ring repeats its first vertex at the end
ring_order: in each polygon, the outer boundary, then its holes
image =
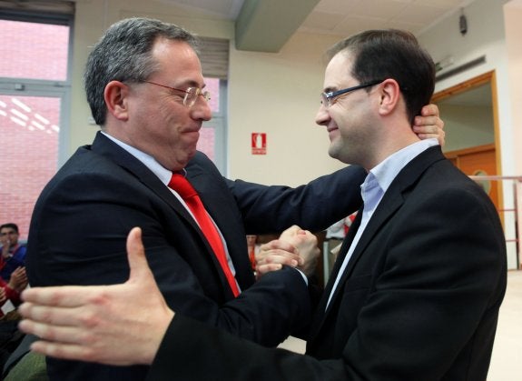
POLYGON ((0 226, 0 277, 9 281, 11 273, 20 266, 25 266, 25 245, 18 242, 18 226, 8 223, 0 226))

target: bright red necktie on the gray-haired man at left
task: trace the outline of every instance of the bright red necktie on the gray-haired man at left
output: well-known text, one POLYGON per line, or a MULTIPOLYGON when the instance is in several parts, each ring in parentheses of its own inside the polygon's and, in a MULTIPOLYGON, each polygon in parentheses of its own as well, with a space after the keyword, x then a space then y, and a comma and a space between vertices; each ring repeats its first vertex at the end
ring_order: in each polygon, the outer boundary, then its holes
POLYGON ((223 247, 222 238, 219 235, 216 226, 214 226, 212 223, 211 217, 207 214, 207 211, 203 206, 202 199, 200 196, 198 196, 198 193, 184 175, 172 174, 169 187, 182 196, 184 202, 187 204, 187 206, 189 206, 189 209, 191 209, 192 215, 198 222, 198 225, 202 229, 203 235, 207 238, 207 241, 211 245, 215 256, 218 258, 218 261, 222 266, 223 273, 227 277, 232 293, 234 296, 240 295, 238 285, 236 284, 236 280, 232 275, 231 268, 227 262, 227 256, 223 247))

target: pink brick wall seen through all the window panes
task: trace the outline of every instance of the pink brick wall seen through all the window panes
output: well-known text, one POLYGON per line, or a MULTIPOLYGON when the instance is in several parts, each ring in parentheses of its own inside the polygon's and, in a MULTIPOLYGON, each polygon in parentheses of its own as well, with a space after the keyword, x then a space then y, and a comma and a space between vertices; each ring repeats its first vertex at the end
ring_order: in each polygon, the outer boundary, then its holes
MULTIPOLYGON (((0 20, 0 77, 64 81, 69 28, 0 20)), ((20 82, 16 80, 15 82, 20 82)), ((208 79, 213 112, 219 80, 208 79)), ((60 100, 0 94, 0 224, 14 222, 27 237, 34 203, 57 169, 60 100)), ((214 131, 201 132, 198 149, 214 158, 214 131)))

